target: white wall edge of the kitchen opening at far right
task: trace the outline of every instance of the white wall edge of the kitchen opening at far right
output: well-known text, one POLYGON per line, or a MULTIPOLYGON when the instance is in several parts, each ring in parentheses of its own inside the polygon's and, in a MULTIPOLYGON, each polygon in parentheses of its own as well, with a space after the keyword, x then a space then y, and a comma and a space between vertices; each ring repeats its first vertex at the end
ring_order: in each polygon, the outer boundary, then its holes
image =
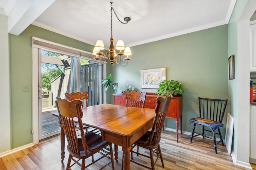
POLYGON ((255 0, 248 0, 237 23, 237 100, 238 100, 238 139, 236 164, 249 164, 250 156, 250 18, 256 8, 255 0), (248 123, 246 123, 248 122, 248 123))

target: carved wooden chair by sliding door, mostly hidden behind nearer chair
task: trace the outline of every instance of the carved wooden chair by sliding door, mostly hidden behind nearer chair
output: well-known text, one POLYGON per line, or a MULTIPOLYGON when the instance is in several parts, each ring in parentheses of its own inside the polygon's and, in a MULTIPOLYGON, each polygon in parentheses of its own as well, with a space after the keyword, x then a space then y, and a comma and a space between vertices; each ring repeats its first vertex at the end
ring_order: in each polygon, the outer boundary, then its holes
MULTIPOLYGON (((85 91, 85 92, 65 93, 65 97, 69 101, 80 99, 83 102, 82 107, 88 107, 88 92, 87 91, 85 91)), ((100 133, 100 130, 84 125, 84 129, 86 130, 85 133, 88 133, 89 128, 90 128, 90 132, 100 133)), ((79 132, 78 132, 78 135, 80 135, 79 132)))

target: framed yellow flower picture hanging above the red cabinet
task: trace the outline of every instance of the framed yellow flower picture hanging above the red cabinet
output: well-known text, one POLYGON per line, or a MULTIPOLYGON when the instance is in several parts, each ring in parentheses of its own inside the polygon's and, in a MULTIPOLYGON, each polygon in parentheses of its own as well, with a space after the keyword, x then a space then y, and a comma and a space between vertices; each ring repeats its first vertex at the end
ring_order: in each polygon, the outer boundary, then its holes
POLYGON ((141 88, 158 88, 166 80, 166 68, 140 70, 141 88))

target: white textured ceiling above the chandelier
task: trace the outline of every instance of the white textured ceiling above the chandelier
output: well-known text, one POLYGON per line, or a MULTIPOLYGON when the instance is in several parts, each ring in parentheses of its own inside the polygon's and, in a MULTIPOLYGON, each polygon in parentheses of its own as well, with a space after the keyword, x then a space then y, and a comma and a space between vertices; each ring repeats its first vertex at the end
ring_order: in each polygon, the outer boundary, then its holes
MULTIPOLYGON (((12 6, 17 0, 0 1, 12 6), (12 3, 11 3, 12 2, 12 3)), ((18 0, 19 1, 19 0, 18 0)), ((54 0, 52 0, 54 1, 54 0)), ((35 0, 36 2, 36 0, 35 0)), ((114 45, 140 45, 227 24, 236 0, 112 0, 114 45)), ((6 5, 7 4, 7 5, 6 5)), ((4 8, 4 7, 3 7, 4 8)), ((10 7, 8 7, 10 8, 10 7)), ((34 7, 33 7, 34 8, 34 7)), ((97 39, 110 44, 110 0, 55 0, 32 24, 94 45, 97 39)))

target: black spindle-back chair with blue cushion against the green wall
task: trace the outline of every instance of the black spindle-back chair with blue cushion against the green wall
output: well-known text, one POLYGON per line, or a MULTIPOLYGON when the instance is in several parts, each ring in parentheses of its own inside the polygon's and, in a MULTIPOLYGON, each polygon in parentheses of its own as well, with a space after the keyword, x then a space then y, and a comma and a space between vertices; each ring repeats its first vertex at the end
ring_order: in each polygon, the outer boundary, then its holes
POLYGON ((224 117, 225 109, 228 100, 220 99, 208 99, 208 98, 198 98, 199 102, 199 116, 190 119, 189 123, 194 124, 193 130, 190 137, 190 142, 192 142, 193 137, 202 135, 203 138, 207 137, 213 140, 215 153, 217 154, 217 145, 221 142, 224 146, 222 135, 220 133, 220 127, 223 127, 222 120, 224 117), (196 125, 202 125, 202 133, 195 132, 196 125), (207 127, 205 129, 205 127, 207 127), (218 133, 216 130, 218 129, 218 133), (212 132, 212 137, 205 134, 205 131, 212 132), (194 135, 196 133, 196 135, 194 135), (220 136, 220 141, 216 141, 216 134, 220 136))

